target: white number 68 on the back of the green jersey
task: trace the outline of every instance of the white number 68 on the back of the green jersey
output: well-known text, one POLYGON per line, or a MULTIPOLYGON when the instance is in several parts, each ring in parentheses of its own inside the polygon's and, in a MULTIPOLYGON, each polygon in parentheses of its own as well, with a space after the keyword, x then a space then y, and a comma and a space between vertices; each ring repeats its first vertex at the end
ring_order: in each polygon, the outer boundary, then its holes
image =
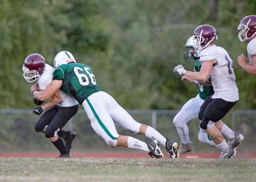
POLYGON ((74 72, 76 74, 76 77, 78 78, 79 83, 82 86, 87 86, 90 83, 96 85, 95 76, 93 75, 91 70, 87 67, 84 67, 83 69, 79 68, 79 67, 74 67, 74 72), (80 73, 79 73, 79 70, 80 70, 80 73), (88 76, 84 73, 84 71, 90 77, 90 80, 89 80, 88 76))

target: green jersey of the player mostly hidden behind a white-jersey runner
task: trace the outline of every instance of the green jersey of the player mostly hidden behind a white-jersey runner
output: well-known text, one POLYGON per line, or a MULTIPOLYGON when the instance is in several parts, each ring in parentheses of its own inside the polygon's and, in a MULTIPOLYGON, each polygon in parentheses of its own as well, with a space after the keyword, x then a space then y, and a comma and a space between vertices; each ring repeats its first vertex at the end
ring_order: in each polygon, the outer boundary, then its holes
MULTIPOLYGON (((199 72, 201 70, 202 64, 199 59, 195 60, 194 63, 194 71, 199 72)), ((199 96, 201 99, 205 100, 208 96, 214 93, 212 86, 203 86, 197 84, 199 86, 199 96)))

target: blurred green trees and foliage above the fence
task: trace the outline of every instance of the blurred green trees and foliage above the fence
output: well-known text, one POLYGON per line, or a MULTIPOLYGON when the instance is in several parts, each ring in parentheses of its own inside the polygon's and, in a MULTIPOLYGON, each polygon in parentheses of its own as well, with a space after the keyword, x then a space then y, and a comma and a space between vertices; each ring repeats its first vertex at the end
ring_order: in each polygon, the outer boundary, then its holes
MULTIPOLYGON (((27 55, 72 52, 94 68, 99 88, 126 109, 180 109, 197 94, 181 82, 177 64, 184 44, 200 24, 217 29, 215 42, 236 63, 246 53, 237 38, 240 20, 255 13, 255 0, 0 0, 0 108, 34 108, 31 84, 23 78, 27 55), (214 10, 214 6, 217 9, 214 10)), ((256 79, 234 66, 237 109, 255 109, 256 79)))

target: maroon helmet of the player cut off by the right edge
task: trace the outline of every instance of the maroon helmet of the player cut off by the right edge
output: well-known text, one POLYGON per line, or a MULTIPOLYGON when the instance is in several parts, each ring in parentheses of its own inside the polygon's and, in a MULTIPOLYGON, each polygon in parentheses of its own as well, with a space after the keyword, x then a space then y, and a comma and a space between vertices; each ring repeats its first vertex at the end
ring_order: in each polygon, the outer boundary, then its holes
POLYGON ((238 25, 237 29, 240 31, 238 33, 240 41, 250 41, 250 39, 256 35, 256 16, 250 15, 244 17, 240 21, 240 25, 238 25), (242 38, 242 36, 244 38, 242 38))

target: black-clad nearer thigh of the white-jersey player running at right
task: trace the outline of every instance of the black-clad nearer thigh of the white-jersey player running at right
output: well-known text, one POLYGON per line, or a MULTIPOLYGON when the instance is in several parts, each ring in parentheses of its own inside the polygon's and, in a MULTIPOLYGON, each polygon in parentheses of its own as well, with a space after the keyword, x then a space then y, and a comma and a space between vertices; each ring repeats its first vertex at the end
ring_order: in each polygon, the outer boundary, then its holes
POLYGON ((213 99, 213 101, 208 104, 203 116, 212 122, 217 122, 221 120, 235 104, 236 102, 228 102, 223 99, 213 99))

